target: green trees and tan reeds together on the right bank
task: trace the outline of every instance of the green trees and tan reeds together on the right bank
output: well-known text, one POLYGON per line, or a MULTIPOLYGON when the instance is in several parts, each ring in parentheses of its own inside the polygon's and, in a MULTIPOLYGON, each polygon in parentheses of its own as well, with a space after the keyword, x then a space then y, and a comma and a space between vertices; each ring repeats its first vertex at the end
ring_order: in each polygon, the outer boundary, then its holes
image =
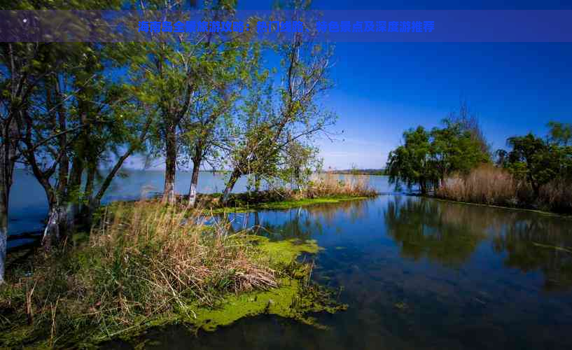
POLYGON ((466 103, 443 124, 403 133, 387 162, 391 183, 458 202, 572 214, 572 124, 551 122, 545 137, 510 137, 508 151, 494 152, 466 103))

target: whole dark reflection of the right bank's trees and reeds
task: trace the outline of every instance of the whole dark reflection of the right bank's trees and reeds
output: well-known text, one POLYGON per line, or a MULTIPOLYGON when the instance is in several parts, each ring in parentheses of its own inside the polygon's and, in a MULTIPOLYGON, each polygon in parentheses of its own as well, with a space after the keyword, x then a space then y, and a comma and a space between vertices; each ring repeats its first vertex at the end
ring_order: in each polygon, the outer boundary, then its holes
POLYGON ((543 272, 546 290, 572 286, 572 221, 413 197, 389 202, 385 221, 403 255, 415 260, 460 265, 491 237, 494 250, 507 253, 507 267, 543 272))

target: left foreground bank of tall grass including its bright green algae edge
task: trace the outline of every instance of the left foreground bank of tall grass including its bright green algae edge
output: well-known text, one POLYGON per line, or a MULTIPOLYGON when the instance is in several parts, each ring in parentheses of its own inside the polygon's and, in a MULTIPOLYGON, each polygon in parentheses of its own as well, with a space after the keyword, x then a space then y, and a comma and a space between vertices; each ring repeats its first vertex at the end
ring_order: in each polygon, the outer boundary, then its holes
POLYGON ((185 322, 214 330, 269 313, 312 323, 343 308, 309 281, 315 241, 268 241, 157 202, 113 204, 90 235, 11 271, 0 346, 90 346, 185 322))

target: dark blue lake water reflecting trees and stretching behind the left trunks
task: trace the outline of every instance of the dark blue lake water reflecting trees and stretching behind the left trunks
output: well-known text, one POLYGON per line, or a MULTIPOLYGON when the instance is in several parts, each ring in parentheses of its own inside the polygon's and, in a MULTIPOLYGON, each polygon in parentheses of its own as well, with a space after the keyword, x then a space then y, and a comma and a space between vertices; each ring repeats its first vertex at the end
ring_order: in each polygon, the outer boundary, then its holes
MULTIPOLYGON (((204 175, 200 190, 221 190, 222 181, 204 175)), ((141 339, 145 347, 572 349, 571 219, 405 196, 391 193, 384 176, 370 181, 386 194, 232 218, 235 228, 252 227, 272 239, 316 239, 325 248, 314 257, 314 280, 339 289, 349 305, 314 315, 327 330, 257 316, 198 336, 183 325, 151 330, 141 339)), ((137 173, 118 179, 108 200, 133 199, 143 186, 161 185, 160 172, 137 173)), ((187 186, 182 173, 177 190, 185 193, 187 186)), ((12 197, 24 208, 17 216, 22 222, 26 210, 41 211, 43 193, 30 184, 20 192, 26 194, 12 197)))

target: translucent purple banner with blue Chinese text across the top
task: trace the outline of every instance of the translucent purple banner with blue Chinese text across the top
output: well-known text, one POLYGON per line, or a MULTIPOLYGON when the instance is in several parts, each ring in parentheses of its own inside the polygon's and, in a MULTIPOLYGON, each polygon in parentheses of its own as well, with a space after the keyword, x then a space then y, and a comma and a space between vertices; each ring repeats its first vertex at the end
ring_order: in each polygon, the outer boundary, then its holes
POLYGON ((0 10, 0 41, 169 41, 218 33, 331 42, 571 42, 572 10, 0 10), (248 35, 246 35, 248 34, 248 35))

